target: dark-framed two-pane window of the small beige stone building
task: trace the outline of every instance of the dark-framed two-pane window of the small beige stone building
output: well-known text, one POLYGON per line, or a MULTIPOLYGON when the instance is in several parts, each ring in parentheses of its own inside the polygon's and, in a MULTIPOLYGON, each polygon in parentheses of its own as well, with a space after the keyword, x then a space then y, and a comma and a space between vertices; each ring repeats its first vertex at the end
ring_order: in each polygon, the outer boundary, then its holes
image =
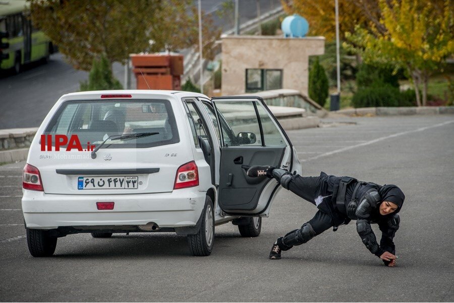
POLYGON ((282 88, 282 70, 246 69, 246 92, 282 88))

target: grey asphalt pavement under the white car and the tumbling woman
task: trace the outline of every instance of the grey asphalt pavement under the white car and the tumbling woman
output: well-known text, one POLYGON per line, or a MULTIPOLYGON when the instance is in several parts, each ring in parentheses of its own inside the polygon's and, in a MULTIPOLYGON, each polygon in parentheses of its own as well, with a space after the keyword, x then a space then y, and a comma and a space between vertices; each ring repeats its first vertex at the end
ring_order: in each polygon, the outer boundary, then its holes
POLYGON ((268 260, 274 240, 316 212, 287 190, 259 237, 216 227, 209 257, 190 256, 183 236, 135 233, 70 235, 58 240, 54 257, 33 258, 21 225, 24 163, 17 163, 0 166, 0 300, 453 301, 454 116, 325 122, 288 132, 304 174, 399 185, 406 201, 394 239, 397 267, 370 254, 354 223, 268 260))

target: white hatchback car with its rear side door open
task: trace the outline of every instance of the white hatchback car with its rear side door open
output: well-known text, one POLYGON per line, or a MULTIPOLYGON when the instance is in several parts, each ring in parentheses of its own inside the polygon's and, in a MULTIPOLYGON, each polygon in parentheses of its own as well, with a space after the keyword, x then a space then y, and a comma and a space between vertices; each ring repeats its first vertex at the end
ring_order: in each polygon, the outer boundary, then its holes
POLYGON ((39 127, 23 174, 34 257, 74 233, 176 232, 210 254, 214 226, 258 236, 279 184, 253 165, 301 172, 285 131, 259 97, 110 90, 62 96, 39 127))

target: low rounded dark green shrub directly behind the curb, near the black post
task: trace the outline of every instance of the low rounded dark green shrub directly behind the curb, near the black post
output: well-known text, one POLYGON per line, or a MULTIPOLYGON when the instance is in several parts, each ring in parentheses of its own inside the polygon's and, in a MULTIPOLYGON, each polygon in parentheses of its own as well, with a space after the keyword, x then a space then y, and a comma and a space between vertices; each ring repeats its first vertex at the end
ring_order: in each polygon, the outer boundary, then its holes
POLYGON ((400 91, 390 84, 361 87, 353 95, 352 105, 360 107, 395 107, 399 106, 400 91))

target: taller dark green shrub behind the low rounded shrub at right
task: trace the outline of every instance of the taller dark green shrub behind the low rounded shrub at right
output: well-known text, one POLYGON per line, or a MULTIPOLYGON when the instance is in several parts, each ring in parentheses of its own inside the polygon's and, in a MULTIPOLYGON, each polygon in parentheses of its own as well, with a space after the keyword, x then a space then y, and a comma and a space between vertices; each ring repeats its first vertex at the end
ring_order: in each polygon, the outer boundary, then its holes
POLYGON ((375 83, 387 83, 394 87, 399 87, 398 75, 392 74, 392 67, 378 67, 368 64, 361 64, 356 73, 356 86, 368 87, 375 83))

